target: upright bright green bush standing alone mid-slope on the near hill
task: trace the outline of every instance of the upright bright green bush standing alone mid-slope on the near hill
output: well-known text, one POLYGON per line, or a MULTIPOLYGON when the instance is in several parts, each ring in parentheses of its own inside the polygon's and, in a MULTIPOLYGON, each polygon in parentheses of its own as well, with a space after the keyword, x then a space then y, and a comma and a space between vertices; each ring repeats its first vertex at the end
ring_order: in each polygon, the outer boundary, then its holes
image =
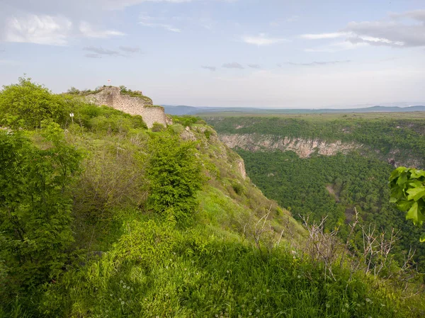
POLYGON ((149 140, 149 153, 147 178, 152 209, 178 220, 189 216, 204 181, 195 143, 167 134, 149 140))

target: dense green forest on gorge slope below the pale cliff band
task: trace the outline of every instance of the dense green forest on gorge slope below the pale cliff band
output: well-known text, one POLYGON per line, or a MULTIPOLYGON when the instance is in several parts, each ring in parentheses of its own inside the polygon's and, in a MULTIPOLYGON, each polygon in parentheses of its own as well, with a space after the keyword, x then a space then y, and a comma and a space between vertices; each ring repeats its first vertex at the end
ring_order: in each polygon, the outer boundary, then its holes
MULTIPOLYGON (((423 268, 425 246, 419 244, 419 229, 407 224, 390 203, 389 164, 356 153, 300 159, 294 152, 237 152, 244 158, 251 180, 295 218, 311 215, 319 222, 327 217, 327 229, 339 227, 340 236, 346 239, 356 208, 360 225, 373 224, 387 235, 392 228, 399 229, 399 241, 392 250, 395 258, 402 263, 412 246, 419 268, 423 268)), ((361 232, 357 235, 361 239, 361 232)))

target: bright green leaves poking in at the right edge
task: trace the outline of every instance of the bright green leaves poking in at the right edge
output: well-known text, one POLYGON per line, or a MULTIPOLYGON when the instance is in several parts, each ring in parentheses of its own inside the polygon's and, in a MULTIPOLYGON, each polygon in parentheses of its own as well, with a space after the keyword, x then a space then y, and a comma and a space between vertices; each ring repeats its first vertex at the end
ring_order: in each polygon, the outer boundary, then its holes
MULTIPOLYGON (((406 220, 421 227, 425 220, 425 171, 399 166, 390 176, 391 198, 406 213, 406 220)), ((425 242, 425 234, 421 235, 425 242)))

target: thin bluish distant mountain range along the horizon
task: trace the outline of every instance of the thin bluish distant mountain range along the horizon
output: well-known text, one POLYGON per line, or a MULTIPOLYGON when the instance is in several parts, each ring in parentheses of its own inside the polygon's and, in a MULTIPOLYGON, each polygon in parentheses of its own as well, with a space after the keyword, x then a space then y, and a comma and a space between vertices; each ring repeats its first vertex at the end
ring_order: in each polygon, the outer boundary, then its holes
POLYGON ((373 106, 366 108, 346 109, 263 109, 249 107, 194 107, 194 106, 167 106, 165 113, 171 115, 195 115, 200 113, 267 113, 267 114, 307 114, 307 113, 403 113, 411 111, 425 111, 425 106, 373 106))

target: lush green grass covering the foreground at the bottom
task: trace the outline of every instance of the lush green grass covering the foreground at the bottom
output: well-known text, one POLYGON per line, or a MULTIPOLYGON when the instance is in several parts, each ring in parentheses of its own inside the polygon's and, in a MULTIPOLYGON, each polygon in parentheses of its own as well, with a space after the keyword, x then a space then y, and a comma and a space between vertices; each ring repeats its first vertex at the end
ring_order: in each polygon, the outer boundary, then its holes
POLYGON ((283 249, 132 221, 111 251, 50 284, 47 317, 419 317, 372 278, 338 280, 283 249), (59 301, 58 301, 59 300, 59 301))

